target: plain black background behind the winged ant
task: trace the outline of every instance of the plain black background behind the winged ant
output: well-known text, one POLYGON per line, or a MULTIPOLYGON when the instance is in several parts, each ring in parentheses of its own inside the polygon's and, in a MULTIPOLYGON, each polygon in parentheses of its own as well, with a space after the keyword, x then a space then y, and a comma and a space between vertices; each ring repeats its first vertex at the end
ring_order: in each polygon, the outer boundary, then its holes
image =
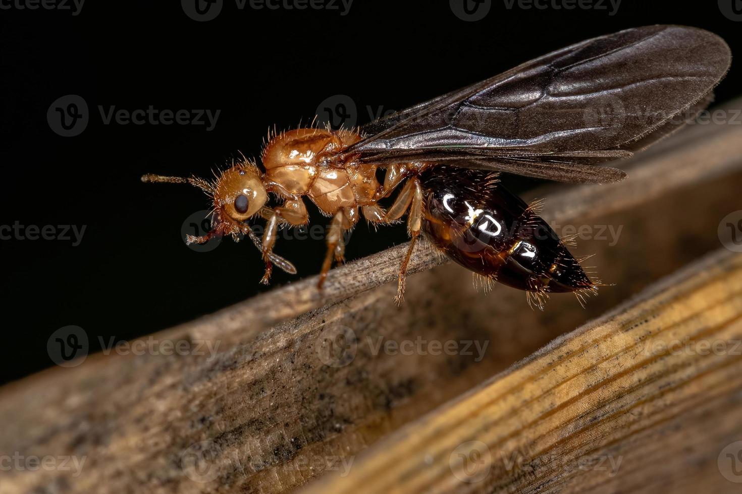
MULTIPOLYGON (((725 2, 742 13, 741 1, 725 2)), ((207 206, 200 191, 142 184, 142 173, 209 177, 237 150, 257 156, 269 126, 311 120, 335 95, 355 102, 363 124, 367 107, 407 107, 626 27, 703 27, 742 53, 742 22, 723 15, 716 0, 623 0, 614 15, 608 1, 601 3, 607 9, 522 9, 517 1, 508 9, 493 0, 479 21, 459 19, 447 0, 355 0, 346 15, 339 2, 332 2, 336 10, 258 10, 249 3, 239 10, 225 0, 216 19, 202 22, 174 1, 89 1, 76 16, 0 10, 0 224, 86 226, 77 247, 0 241, 0 381, 52 365, 47 338, 59 327, 84 328, 94 352, 98 336, 134 338, 266 290, 257 284, 263 266, 252 245, 225 239, 208 253, 185 247, 183 221, 207 206), (89 123, 79 136, 62 137, 47 110, 69 94, 85 99, 89 123), (99 105, 221 111, 207 131, 103 124, 99 105)), ((741 82, 733 61, 718 100, 738 95, 741 82)), ((310 215, 326 224, 316 210, 310 215)), ((374 234, 361 223, 347 257, 405 238, 404 227, 374 234)), ((318 273, 324 244, 284 240, 277 252, 295 262, 299 276, 276 273, 274 286, 318 273)))

